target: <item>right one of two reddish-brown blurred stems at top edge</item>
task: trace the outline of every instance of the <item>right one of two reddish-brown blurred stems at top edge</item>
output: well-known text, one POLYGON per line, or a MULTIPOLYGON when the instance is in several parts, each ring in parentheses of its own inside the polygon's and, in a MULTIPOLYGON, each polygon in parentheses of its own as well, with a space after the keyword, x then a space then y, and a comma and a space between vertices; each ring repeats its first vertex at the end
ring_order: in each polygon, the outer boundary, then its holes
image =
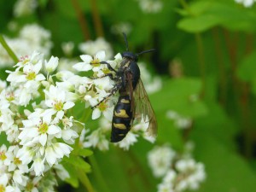
POLYGON ((104 32, 102 29, 102 20, 97 9, 96 0, 90 0, 90 6, 92 10, 92 18, 94 27, 96 29, 97 37, 104 37, 104 32))

